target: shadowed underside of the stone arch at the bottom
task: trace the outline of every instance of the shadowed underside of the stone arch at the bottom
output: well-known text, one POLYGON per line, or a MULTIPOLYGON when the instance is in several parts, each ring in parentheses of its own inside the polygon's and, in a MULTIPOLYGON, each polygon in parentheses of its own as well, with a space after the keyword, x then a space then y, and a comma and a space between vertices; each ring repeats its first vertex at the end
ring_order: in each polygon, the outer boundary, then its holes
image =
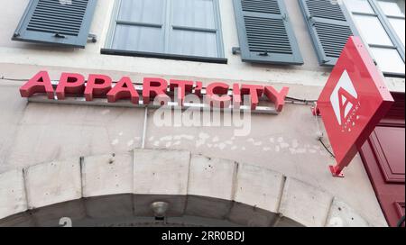
POLYGON ((33 227, 238 227, 302 226, 263 209, 196 195, 105 195, 52 204, 0 220, 4 226, 33 227), (162 219, 151 204, 169 204, 162 219), (187 200, 187 207, 182 203, 187 200))

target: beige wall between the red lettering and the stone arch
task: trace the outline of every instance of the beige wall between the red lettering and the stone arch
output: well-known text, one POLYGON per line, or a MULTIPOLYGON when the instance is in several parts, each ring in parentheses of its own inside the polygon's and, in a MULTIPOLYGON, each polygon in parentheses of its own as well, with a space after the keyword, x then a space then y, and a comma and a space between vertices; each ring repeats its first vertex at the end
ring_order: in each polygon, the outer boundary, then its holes
MULTIPOLYGON (((278 171, 286 177, 327 190, 350 204, 368 222, 385 225, 359 156, 346 168, 345 178, 331 177, 328 165, 333 164, 334 159, 317 141, 318 127, 310 113, 310 105, 286 104, 279 115, 253 114, 251 132, 241 137, 235 137, 235 127, 158 127, 153 123, 154 111, 149 110, 143 138, 145 118, 142 108, 28 103, 19 96, 18 87, 15 82, 0 86, 0 133, 4 136, 0 139, 0 173, 29 168, 41 162, 107 152, 125 153, 140 148, 144 140, 147 149, 189 150, 193 154, 278 171)), ((291 89, 300 90, 300 87, 292 86, 291 89)), ((324 141, 328 144, 327 137, 324 141)), ((232 172, 223 172, 226 169, 220 163, 211 165, 219 174, 233 175, 232 172)), ((164 159, 161 168, 165 169, 164 159)), ((176 178, 186 177, 182 168, 177 169, 179 177, 176 178)), ((88 178, 95 176, 88 174, 88 178)), ((208 178, 196 183, 197 193, 194 195, 214 195, 210 194, 211 189, 202 193, 199 190, 210 181, 208 178)), ((107 191, 107 187, 101 191, 107 191)), ((219 188, 227 189, 225 186, 219 188)), ((251 191, 251 195, 256 195, 254 188, 251 191)), ((323 202, 328 203, 327 200, 323 202)))

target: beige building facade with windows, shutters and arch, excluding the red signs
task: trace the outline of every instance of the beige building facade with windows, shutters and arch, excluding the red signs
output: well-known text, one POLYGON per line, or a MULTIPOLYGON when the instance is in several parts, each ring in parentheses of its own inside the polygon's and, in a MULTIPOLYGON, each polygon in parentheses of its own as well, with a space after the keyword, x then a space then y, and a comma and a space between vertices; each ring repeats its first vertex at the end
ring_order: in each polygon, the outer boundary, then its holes
POLYGON ((394 226, 404 215, 404 0, 0 3, 0 225, 394 226), (311 107, 352 35, 395 103, 337 178, 311 107), (160 108, 129 100, 23 98, 39 71, 54 86, 75 73, 289 93, 281 112, 258 105, 247 123, 172 111, 160 123, 160 108))

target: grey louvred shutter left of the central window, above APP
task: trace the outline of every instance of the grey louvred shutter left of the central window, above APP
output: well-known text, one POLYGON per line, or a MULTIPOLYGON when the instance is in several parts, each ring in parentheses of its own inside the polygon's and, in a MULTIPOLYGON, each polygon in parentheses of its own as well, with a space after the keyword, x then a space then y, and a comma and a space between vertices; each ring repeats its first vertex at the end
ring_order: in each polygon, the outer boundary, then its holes
POLYGON ((12 39, 85 48, 96 3, 97 0, 31 0, 12 39))

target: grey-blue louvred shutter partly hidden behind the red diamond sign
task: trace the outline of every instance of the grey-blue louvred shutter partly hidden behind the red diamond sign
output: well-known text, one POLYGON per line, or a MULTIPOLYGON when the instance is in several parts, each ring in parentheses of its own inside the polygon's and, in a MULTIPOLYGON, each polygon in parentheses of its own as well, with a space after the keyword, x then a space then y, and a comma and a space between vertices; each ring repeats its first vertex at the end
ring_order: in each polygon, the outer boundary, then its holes
POLYGON ((337 0, 299 1, 320 65, 336 65, 346 41, 355 35, 353 23, 337 0))

